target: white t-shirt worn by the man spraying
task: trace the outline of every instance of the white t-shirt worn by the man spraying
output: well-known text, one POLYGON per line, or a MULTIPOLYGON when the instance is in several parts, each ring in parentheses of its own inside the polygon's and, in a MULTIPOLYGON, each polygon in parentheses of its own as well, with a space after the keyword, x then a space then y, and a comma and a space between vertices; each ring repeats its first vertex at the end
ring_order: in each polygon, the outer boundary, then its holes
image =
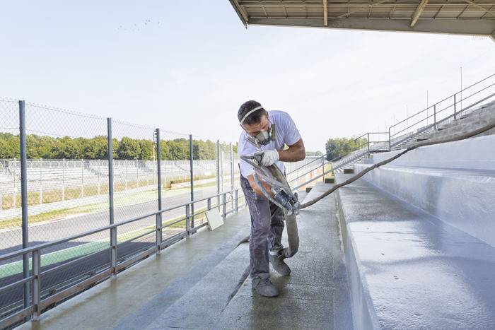
MULTIPOLYGON (((271 124, 275 124, 275 141, 270 141, 266 146, 261 146, 261 150, 282 150, 284 145, 291 146, 297 141, 301 140, 301 134, 299 134, 296 124, 294 124, 291 116, 287 112, 283 111, 269 111, 268 118, 271 124)), ((255 146, 252 145, 246 139, 247 133, 243 131, 240 134, 238 144, 238 154, 241 155, 254 155, 257 152, 255 146)), ((252 175, 255 170, 244 160, 239 160, 240 174, 243 177, 252 175)), ((284 172, 284 163, 276 162, 279 169, 284 172)))

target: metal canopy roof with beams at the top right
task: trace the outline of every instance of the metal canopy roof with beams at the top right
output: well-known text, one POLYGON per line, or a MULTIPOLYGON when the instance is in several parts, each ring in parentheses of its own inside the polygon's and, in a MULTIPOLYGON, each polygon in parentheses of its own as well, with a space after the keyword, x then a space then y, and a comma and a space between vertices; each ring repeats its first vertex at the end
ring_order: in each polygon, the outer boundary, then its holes
POLYGON ((489 35, 495 0, 230 0, 248 25, 489 35))

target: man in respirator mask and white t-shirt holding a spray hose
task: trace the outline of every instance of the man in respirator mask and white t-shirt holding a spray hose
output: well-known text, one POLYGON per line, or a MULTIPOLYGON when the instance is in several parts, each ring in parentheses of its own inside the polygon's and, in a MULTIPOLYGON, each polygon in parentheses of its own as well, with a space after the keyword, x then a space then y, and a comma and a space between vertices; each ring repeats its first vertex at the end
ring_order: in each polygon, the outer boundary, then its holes
MULTIPOLYGON (((248 101, 238 111, 240 134, 239 155, 261 155, 260 165, 276 164, 284 173, 284 163, 305 158, 301 135, 289 114, 267 111, 256 101, 248 101), (285 148, 288 146, 289 148, 285 148)), ((284 211, 266 199, 253 177, 255 170, 240 160, 240 185, 251 215, 249 240, 252 288, 265 297, 276 297, 279 291, 269 280, 269 262, 282 276, 291 269, 284 262, 281 250, 284 230, 284 211)))

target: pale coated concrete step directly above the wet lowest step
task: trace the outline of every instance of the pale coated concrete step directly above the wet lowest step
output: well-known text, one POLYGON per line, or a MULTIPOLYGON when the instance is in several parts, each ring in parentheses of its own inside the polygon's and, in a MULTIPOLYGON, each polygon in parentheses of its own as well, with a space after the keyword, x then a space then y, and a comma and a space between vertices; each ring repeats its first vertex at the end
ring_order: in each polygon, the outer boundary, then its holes
MULTIPOLYGON (((356 171, 366 166, 356 164, 356 171)), ((365 175, 445 223, 495 246, 495 171, 390 165, 365 175)))

